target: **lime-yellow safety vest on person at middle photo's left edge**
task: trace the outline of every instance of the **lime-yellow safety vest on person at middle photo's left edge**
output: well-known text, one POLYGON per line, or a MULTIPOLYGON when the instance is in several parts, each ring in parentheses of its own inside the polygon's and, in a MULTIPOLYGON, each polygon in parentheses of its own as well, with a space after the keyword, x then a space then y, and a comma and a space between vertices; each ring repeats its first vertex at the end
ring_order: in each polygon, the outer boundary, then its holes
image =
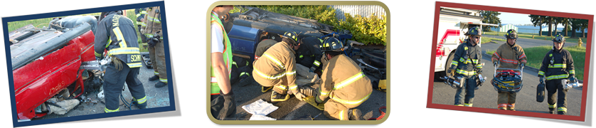
MULTIPOLYGON (((225 63, 225 66, 228 68, 228 78, 230 78, 230 74, 232 71, 232 65, 230 64, 232 62, 232 45, 230 44, 228 33, 225 33, 225 30, 223 29, 223 23, 221 23, 220 19, 217 16, 215 16, 213 12, 211 12, 211 23, 213 22, 220 26, 221 31, 223 33, 223 61, 225 63)), ((211 65, 211 95, 218 95, 219 90, 220 88, 217 79, 215 79, 215 73, 213 72, 213 65, 211 65)))

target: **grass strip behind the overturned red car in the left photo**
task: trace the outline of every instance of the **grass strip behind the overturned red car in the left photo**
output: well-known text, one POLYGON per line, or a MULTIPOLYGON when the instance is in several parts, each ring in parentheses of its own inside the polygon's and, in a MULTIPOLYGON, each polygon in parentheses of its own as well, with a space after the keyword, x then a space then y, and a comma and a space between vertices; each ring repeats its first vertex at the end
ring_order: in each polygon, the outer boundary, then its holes
MULTIPOLYGON (((130 18, 133 23, 134 23, 134 29, 138 30, 137 28, 137 16, 134 14, 134 9, 129 9, 126 11, 127 12, 127 18, 130 18)), ((78 16, 99 16, 101 13, 92 13, 92 14, 80 14, 78 16)), ((66 16, 60 16, 60 17, 66 17, 66 16)), ((52 21, 53 18, 57 18, 57 17, 51 17, 51 18, 38 18, 38 19, 32 19, 32 20, 26 20, 26 21, 13 21, 13 22, 9 22, 8 23, 8 27, 9 27, 9 32, 10 31, 14 31, 17 28, 21 28, 23 26, 27 26, 29 24, 33 24, 33 26, 36 26, 36 28, 41 28, 43 26, 48 26, 48 23, 50 23, 50 21, 52 21)), ((141 44, 141 37, 139 35, 140 33, 137 33, 137 37, 138 40, 137 42, 139 43, 139 46, 141 48, 141 52, 147 52, 148 50, 146 48, 142 48, 142 44, 141 44)))

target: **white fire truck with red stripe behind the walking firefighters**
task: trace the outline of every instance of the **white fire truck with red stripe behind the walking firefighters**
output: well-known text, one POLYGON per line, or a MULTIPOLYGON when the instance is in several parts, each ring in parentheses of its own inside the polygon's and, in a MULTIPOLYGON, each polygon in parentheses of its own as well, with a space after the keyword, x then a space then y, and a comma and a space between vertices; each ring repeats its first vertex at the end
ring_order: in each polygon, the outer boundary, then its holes
MULTIPOLYGON (((437 34, 437 54, 435 55, 435 77, 445 76, 445 71, 451 66, 453 54, 459 44, 467 37, 464 35, 474 26, 499 26, 482 23, 479 10, 441 7, 439 15, 439 33, 437 34)), ((480 45, 480 44, 478 44, 480 45)))

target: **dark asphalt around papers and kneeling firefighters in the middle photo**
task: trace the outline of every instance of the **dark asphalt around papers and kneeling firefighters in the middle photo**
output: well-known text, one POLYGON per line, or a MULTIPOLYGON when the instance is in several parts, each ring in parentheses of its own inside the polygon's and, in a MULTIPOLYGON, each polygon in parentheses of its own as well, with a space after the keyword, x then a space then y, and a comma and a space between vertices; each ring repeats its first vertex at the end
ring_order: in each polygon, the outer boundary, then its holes
MULTIPOLYGON (((252 76, 252 75, 251 75, 252 76)), ((369 77, 371 78, 371 77, 369 77)), ((371 78, 371 80, 376 80, 375 78, 371 78)), ((318 87, 318 86, 314 86, 318 87)), ((235 95, 235 102, 236 102, 236 113, 234 116, 229 117, 228 119, 232 120, 248 120, 252 116, 252 114, 246 112, 242 106, 249 105, 252 102, 257 100, 264 100, 265 102, 272 103, 271 92, 269 90, 265 93, 261 92, 261 86, 259 83, 252 80, 252 82, 242 86, 240 82, 235 82, 232 85, 232 91, 235 95)), ((361 110, 363 118, 369 119, 371 117, 379 117, 381 116, 381 112, 378 112, 379 107, 386 106, 387 101, 387 92, 382 92, 379 90, 373 90, 371 97, 368 98, 365 102, 363 102, 360 106, 356 107, 356 109, 361 110)), ((305 116, 307 114, 312 115, 312 117, 316 116, 317 114, 322 113, 322 110, 316 109, 312 105, 308 104, 307 102, 300 101, 294 95, 290 96, 290 99, 284 102, 273 102, 272 105, 279 107, 274 112, 267 114, 267 117, 272 117, 277 120, 294 120, 298 117, 305 116)), ((383 112, 387 112, 387 110, 383 110, 383 112)), ((385 115, 385 116, 388 116, 385 115)), ((330 118, 325 117, 324 114, 321 114, 319 117, 316 117, 314 120, 330 120, 330 118)))

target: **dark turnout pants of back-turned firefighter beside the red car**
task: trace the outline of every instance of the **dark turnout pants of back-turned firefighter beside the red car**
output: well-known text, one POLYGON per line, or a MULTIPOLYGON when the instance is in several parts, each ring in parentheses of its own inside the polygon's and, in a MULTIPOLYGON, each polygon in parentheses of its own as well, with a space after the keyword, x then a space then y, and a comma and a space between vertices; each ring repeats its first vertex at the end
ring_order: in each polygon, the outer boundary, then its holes
POLYGON ((138 104, 147 102, 143 83, 137 79, 140 68, 129 68, 122 63, 122 70, 117 70, 114 63, 107 65, 104 75, 103 90, 105 94, 105 112, 118 112, 120 107, 120 94, 124 82, 127 83, 130 94, 138 104))

